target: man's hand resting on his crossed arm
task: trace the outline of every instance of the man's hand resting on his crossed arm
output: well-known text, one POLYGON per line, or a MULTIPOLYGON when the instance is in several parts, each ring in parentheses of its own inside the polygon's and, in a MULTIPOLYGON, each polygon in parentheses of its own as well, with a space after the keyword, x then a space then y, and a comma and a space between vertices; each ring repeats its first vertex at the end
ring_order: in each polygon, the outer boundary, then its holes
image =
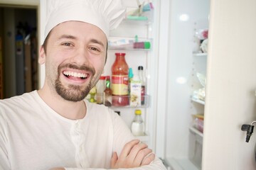
POLYGON ((132 140, 124 145, 119 157, 114 152, 111 159, 111 168, 134 168, 143 165, 148 165, 155 158, 152 150, 144 143, 140 143, 139 140, 132 140))

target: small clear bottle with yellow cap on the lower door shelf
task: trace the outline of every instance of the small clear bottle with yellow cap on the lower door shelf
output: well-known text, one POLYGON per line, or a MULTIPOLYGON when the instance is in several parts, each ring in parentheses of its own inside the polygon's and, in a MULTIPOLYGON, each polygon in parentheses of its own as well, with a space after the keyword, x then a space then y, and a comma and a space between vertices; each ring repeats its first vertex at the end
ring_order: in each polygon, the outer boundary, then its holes
POLYGON ((143 136, 144 135, 144 122, 142 120, 142 111, 135 110, 135 117, 132 121, 132 135, 143 136))

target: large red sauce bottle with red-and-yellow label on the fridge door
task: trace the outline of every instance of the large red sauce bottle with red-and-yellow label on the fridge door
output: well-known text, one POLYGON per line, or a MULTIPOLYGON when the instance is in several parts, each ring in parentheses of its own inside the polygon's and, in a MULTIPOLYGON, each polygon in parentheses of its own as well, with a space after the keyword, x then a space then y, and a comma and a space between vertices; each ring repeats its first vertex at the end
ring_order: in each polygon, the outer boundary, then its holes
POLYGON ((129 105, 128 72, 129 67, 125 61, 125 53, 115 53, 116 59, 112 65, 112 105, 129 105))

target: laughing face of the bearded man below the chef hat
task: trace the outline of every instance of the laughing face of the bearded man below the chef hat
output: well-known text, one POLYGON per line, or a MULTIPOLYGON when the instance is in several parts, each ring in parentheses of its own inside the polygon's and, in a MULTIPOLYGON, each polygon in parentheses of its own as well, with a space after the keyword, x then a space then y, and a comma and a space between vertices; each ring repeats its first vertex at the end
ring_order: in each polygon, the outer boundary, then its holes
POLYGON ((81 101, 102 74, 107 53, 105 33, 89 23, 68 21, 51 30, 41 48, 46 86, 68 101, 81 101))

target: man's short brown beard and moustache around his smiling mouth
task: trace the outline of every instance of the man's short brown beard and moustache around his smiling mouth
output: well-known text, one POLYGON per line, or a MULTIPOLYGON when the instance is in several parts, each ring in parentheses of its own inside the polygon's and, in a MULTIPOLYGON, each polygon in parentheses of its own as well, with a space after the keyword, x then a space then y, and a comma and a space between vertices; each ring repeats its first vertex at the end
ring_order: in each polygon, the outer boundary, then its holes
MULTIPOLYGON (((68 67, 72 69, 80 69, 80 70, 87 70, 91 72, 91 76, 93 77, 95 75, 94 69, 88 68, 88 67, 80 67, 78 68, 75 65, 68 65, 68 66, 62 66, 62 67, 68 67)), ((60 69, 61 66, 58 68, 58 77, 60 77, 60 69)), ((60 95, 62 98, 64 98, 67 101, 82 101, 87 94, 89 94, 90 89, 92 89, 92 82, 90 81, 90 84, 88 84, 86 87, 78 86, 78 85, 68 85, 68 88, 65 88, 63 84, 61 84, 60 79, 57 78, 55 80, 55 90, 57 91, 58 95, 60 95)))

